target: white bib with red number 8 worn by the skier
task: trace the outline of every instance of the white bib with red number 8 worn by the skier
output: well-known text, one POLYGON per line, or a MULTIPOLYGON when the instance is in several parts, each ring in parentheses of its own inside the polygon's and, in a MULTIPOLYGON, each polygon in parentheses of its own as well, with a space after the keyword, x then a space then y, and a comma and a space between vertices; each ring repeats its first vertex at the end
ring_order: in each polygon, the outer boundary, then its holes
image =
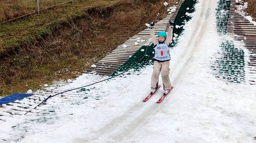
POLYGON ((159 60, 159 61, 165 61, 165 60, 170 60, 170 47, 166 44, 164 41, 163 44, 159 44, 157 41, 157 44, 154 48, 154 59, 159 60))

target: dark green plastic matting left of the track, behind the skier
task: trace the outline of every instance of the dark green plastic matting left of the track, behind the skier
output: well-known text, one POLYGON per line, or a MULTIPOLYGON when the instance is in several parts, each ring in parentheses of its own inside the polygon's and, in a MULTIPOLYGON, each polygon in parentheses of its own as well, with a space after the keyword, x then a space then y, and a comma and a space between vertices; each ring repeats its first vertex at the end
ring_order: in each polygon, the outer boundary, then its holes
MULTIPOLYGON (((179 36, 184 31, 184 28, 183 28, 184 24, 191 19, 191 16, 189 16, 187 13, 193 13, 195 11, 195 4, 197 3, 197 1, 198 0, 185 0, 181 4, 180 9, 177 13, 177 16, 174 19, 173 33, 175 34, 176 37, 173 38, 173 42, 170 45, 171 49, 176 46, 179 36)), ((173 37, 174 37, 174 34, 173 34, 173 37)), ((153 44, 149 46, 143 46, 135 54, 133 54, 133 56, 130 57, 121 67, 119 67, 111 76, 115 76, 121 72, 128 71, 130 69, 139 71, 141 68, 146 67, 147 65, 153 65, 154 63, 153 48, 154 48, 153 44), (138 63, 139 60, 141 61, 138 63)))

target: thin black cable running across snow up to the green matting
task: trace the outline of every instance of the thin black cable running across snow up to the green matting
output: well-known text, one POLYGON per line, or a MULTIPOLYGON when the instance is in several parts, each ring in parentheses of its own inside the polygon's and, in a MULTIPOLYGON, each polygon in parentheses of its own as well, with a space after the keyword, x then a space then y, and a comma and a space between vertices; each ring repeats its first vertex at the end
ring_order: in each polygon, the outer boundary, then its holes
MULTIPOLYGON (((178 5, 178 7, 179 7, 179 6, 180 6, 180 0, 179 0, 179 5, 178 5)), ((174 15, 171 17, 171 19, 172 19, 173 17, 174 17, 174 15)), ((167 29, 167 28, 166 28, 166 29, 167 29)), ((150 42, 150 43, 152 43, 152 42, 150 42)), ((147 46, 147 48, 146 48, 146 51, 145 51, 144 56, 137 62, 137 64, 140 63, 141 60, 145 57, 145 55, 146 55, 146 53, 147 53, 147 49, 148 49, 150 43, 148 44, 148 46, 147 46)), ((135 66, 135 65, 134 65, 134 66, 135 66)), ((134 67, 134 66, 133 66, 133 67, 134 67)), ((133 67, 132 67, 132 68, 133 68, 133 67)), ((56 96, 56 95, 60 95, 60 94, 63 94, 63 93, 65 93, 65 92, 69 92, 69 91, 72 91, 72 90, 76 90, 76 89, 79 89, 79 88, 83 88, 83 87, 87 87, 87 86, 92 86, 92 85, 101 83, 101 82, 103 82, 103 81, 112 79, 112 78, 114 78, 114 77, 116 77, 116 76, 120 76, 120 75, 124 74, 125 72, 127 72, 127 71, 124 71, 124 72, 122 72, 122 73, 120 73, 120 74, 118 74, 118 75, 111 76, 111 77, 109 77, 109 78, 103 79, 103 80, 101 80, 101 81, 98 81, 98 82, 95 82, 95 83, 92 83, 92 84, 89 84, 89 85, 86 85, 86 86, 81 86, 81 87, 77 87, 77 88, 73 88, 73 89, 70 89, 70 90, 66 90, 66 91, 57 93, 57 94, 55 94, 55 95, 50 95, 50 96, 48 96, 47 98, 45 98, 40 104, 36 105, 33 109, 35 109, 36 107, 38 107, 38 106, 40 106, 41 104, 43 104, 44 102, 46 102, 46 101, 47 101, 49 98, 51 98, 51 97, 54 97, 54 96, 56 96)), ((30 111, 30 112, 31 112, 31 111, 30 111)), ((26 114, 28 114, 28 113, 29 113, 29 112, 25 113, 24 115, 26 115, 26 114)))

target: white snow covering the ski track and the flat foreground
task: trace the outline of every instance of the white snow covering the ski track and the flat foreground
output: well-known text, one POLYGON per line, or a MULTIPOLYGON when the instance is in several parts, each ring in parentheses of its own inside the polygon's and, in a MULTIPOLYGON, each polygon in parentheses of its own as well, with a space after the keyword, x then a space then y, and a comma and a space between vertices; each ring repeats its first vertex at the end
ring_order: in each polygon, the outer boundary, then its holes
MULTIPOLYGON (((50 98, 47 103, 52 107, 44 106, 55 111, 51 114, 16 115, 0 121, 0 142, 256 143, 256 88, 213 75, 210 66, 223 38, 215 28, 218 0, 199 1, 171 51, 174 89, 163 103, 155 103, 163 89, 143 103, 153 71, 153 66, 147 66, 140 74, 94 85, 86 99, 75 97, 76 91, 65 94, 68 100, 50 98)), ((84 74, 58 89, 102 78, 107 77, 84 74)))

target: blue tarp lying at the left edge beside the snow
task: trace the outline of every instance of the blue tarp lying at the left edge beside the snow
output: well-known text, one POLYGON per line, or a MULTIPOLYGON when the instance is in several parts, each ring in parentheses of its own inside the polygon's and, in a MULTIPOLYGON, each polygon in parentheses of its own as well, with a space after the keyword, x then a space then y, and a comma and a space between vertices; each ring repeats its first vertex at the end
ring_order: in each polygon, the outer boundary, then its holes
POLYGON ((15 100, 20 100, 20 99, 23 99, 25 97, 29 97, 31 95, 32 94, 14 93, 14 94, 11 94, 9 96, 1 98, 0 99, 0 105, 6 104, 6 103, 10 103, 10 102, 13 102, 15 100))

